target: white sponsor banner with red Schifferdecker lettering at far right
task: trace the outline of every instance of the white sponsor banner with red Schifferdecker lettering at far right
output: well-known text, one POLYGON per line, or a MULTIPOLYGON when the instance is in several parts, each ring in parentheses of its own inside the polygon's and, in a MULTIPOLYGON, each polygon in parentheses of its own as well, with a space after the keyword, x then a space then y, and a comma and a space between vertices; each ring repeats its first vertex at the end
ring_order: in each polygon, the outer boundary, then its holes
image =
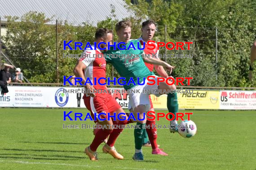
POLYGON ((220 109, 256 110, 256 91, 220 91, 220 109))

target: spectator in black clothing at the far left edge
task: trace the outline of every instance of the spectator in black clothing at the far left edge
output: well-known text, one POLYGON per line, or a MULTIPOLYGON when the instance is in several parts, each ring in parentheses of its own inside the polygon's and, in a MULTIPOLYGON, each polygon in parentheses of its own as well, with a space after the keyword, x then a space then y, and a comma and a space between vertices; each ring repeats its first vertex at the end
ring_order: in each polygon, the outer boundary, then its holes
POLYGON ((2 95, 9 92, 7 88, 7 85, 11 82, 11 73, 9 73, 9 68, 13 68, 13 66, 9 64, 3 64, 0 66, 0 87, 2 89, 2 95))

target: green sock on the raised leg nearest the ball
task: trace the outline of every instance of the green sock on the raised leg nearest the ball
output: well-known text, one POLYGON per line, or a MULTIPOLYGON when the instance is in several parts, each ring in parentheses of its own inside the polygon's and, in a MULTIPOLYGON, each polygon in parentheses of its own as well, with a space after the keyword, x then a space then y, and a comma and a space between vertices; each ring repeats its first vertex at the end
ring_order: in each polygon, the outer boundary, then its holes
MULTIPOLYGON (((173 119, 173 120, 175 120, 176 113, 179 110, 177 93, 168 93, 167 94, 167 108, 168 108, 169 112, 172 112, 175 115, 175 117, 173 119)), ((172 119, 172 115, 169 115, 169 119, 172 119)))

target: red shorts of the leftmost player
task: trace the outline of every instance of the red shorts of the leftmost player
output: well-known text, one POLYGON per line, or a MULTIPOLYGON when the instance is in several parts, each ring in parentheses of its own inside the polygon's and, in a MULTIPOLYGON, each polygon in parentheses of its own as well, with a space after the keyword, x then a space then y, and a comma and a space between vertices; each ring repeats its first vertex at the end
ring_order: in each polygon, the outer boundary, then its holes
MULTIPOLYGON (((113 113, 114 111, 118 110, 121 106, 116 102, 116 100, 112 97, 109 93, 102 93, 97 94, 94 98, 90 96, 86 96, 84 94, 84 105, 88 110, 91 112, 91 116, 94 120, 94 113, 98 116, 99 113, 113 113)), ((100 115, 101 119, 106 118, 107 115, 100 115)), ((101 121, 97 119, 94 121, 95 123, 101 121)))

